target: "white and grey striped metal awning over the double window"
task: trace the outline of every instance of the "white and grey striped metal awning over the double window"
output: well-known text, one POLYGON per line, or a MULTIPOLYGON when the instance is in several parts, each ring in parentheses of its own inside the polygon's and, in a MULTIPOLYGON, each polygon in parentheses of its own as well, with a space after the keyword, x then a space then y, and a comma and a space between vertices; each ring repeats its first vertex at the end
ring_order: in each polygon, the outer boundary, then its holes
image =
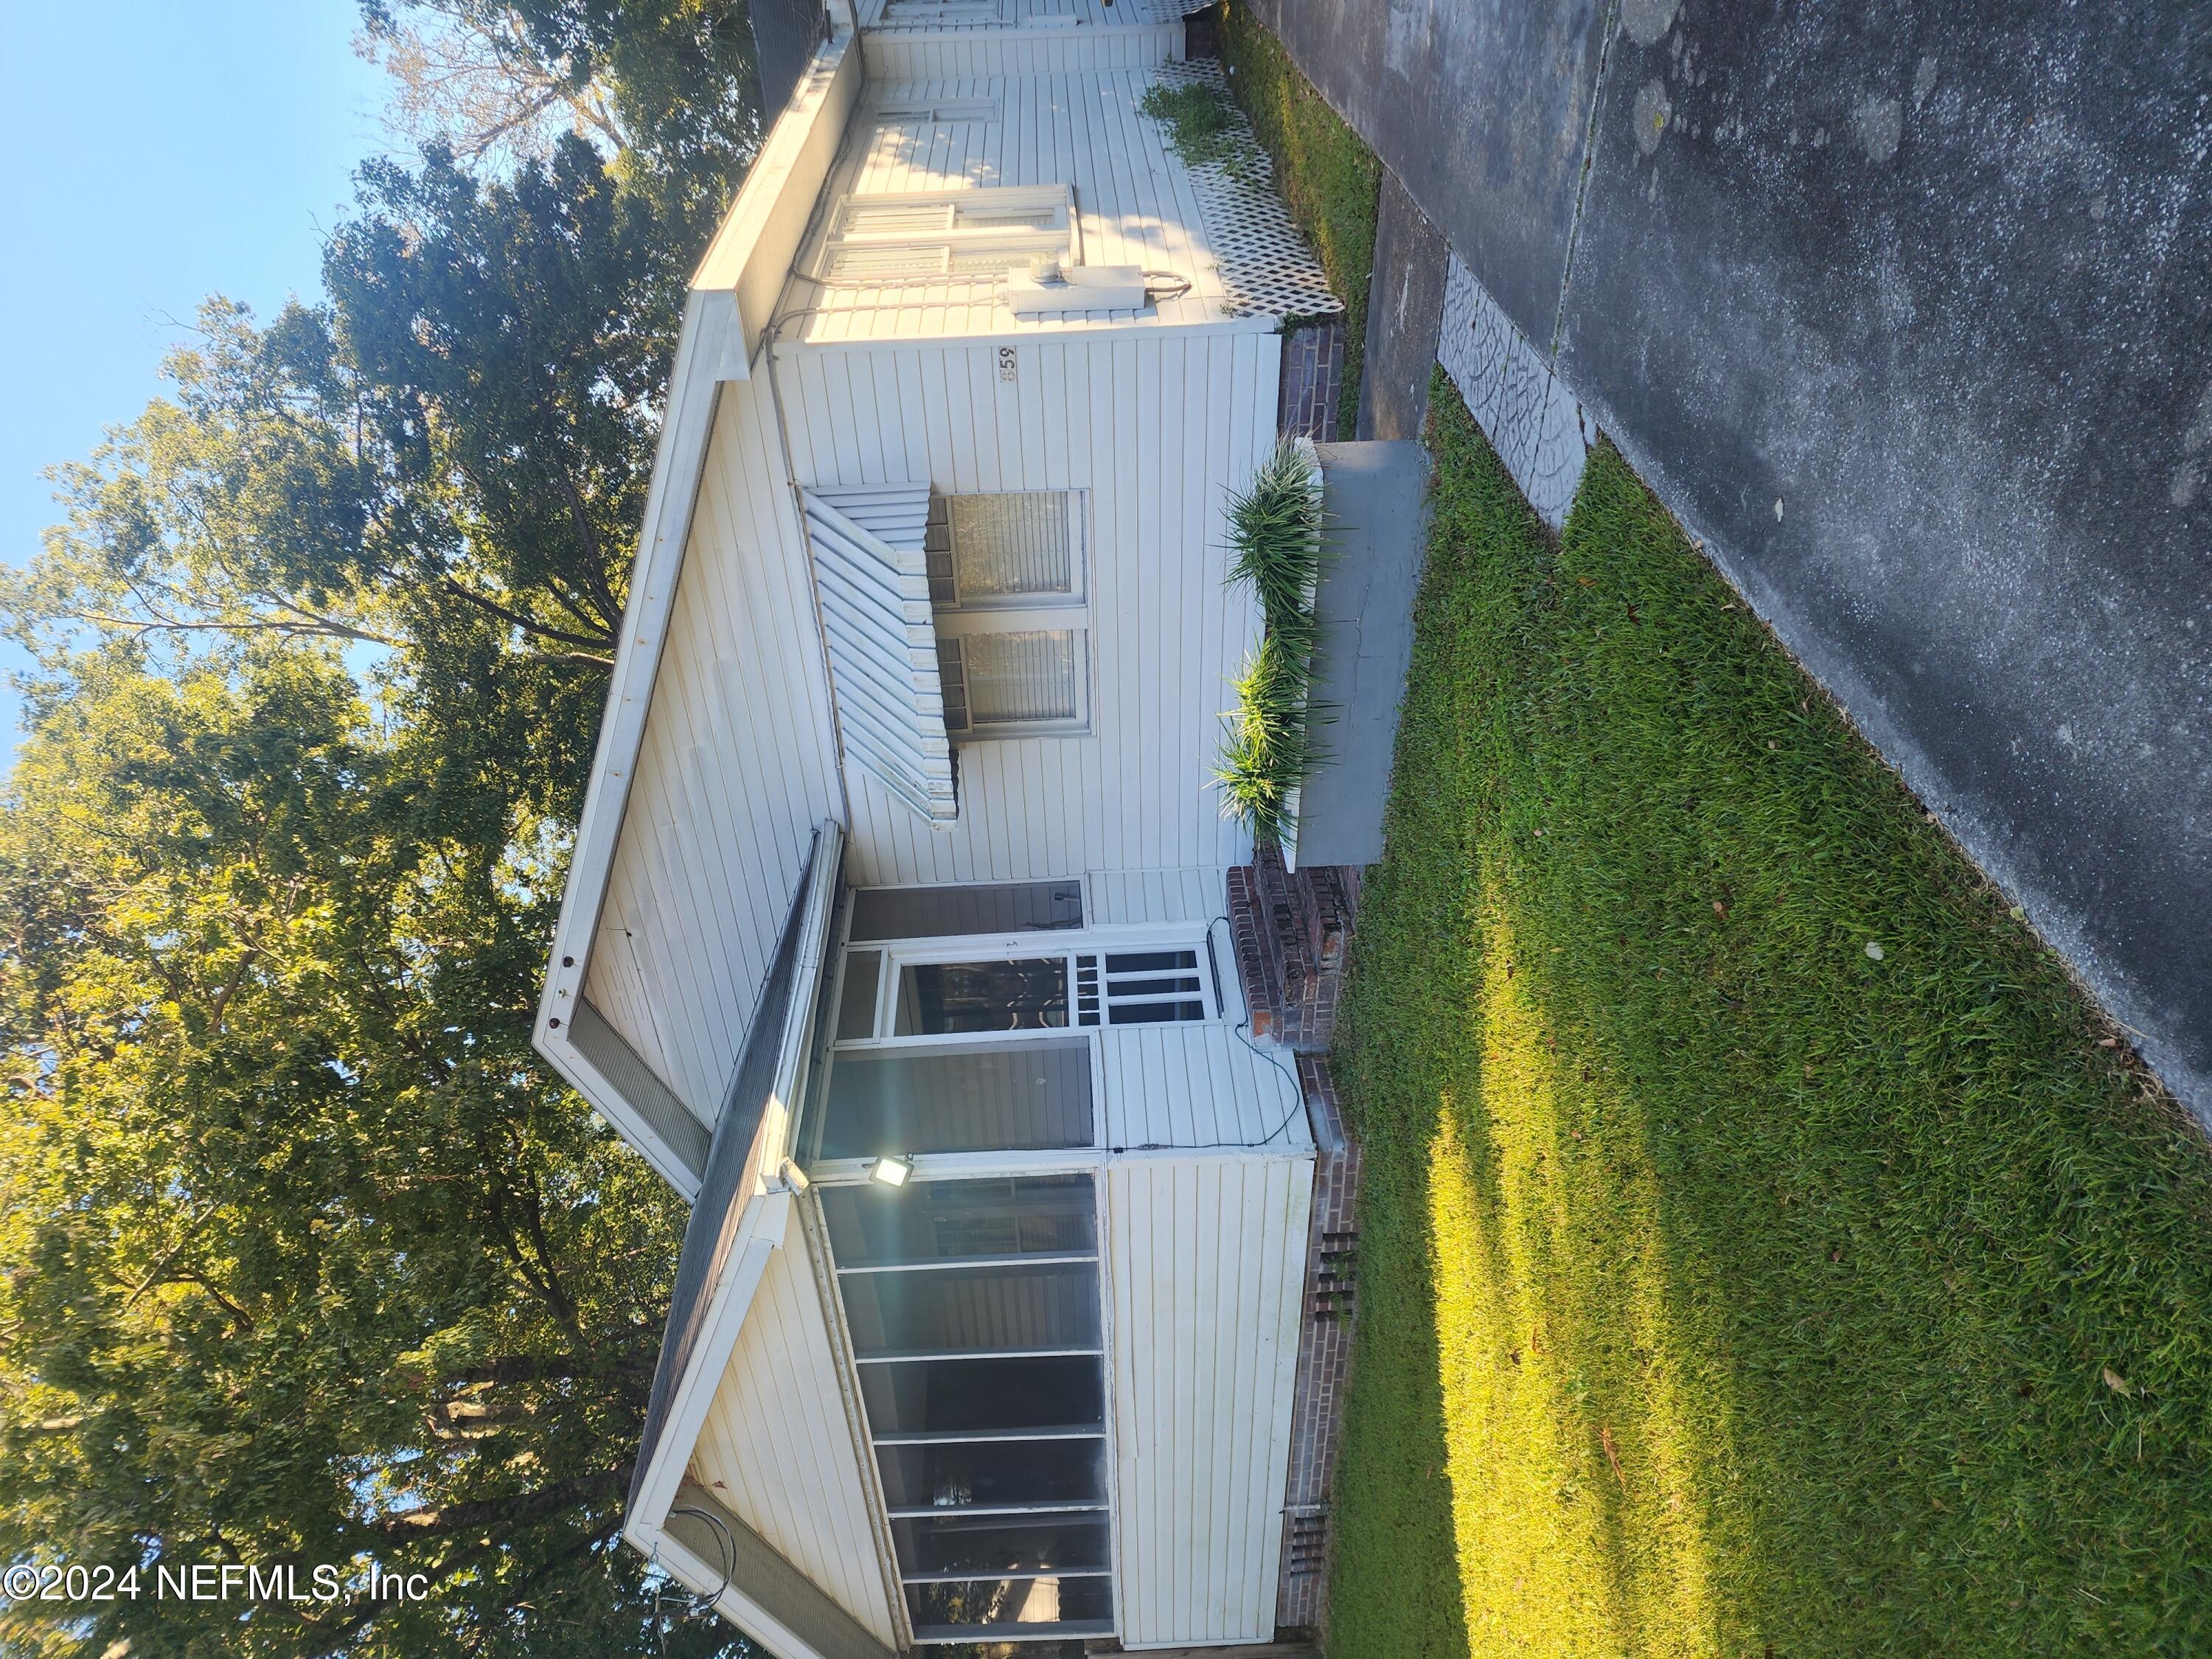
POLYGON ((845 759, 929 823, 951 823, 953 752, 922 551, 929 484, 810 489, 805 502, 845 759))

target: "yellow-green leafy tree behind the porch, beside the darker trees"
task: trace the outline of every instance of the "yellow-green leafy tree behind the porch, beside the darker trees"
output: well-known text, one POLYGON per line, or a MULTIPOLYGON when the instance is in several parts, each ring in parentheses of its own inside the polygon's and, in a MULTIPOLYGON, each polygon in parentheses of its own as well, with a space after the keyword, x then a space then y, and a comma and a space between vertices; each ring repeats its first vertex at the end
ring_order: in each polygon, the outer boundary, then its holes
POLYGON ((449 834, 416 741, 296 644, 106 646, 42 697, 0 814, 0 1555, 434 1590, 29 1604, 27 1650, 653 1650, 615 1535, 679 1206, 529 1048, 549 841, 449 834))

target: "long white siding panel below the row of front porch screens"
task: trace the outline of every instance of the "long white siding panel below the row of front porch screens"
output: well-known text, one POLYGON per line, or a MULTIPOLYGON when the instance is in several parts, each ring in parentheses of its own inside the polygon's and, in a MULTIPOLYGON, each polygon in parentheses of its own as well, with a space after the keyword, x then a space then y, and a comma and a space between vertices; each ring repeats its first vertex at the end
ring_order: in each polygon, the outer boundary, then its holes
POLYGON ((1121 1641, 1267 1641, 1312 1159, 1106 1172, 1121 1641))

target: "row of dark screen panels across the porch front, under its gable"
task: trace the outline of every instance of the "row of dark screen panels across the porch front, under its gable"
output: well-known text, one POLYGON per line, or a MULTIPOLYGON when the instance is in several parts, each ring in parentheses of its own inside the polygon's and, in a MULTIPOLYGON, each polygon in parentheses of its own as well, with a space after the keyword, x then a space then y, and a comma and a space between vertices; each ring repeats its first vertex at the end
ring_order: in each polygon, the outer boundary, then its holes
POLYGON ((818 1192, 916 1639, 1113 1635, 1093 1179, 818 1192))

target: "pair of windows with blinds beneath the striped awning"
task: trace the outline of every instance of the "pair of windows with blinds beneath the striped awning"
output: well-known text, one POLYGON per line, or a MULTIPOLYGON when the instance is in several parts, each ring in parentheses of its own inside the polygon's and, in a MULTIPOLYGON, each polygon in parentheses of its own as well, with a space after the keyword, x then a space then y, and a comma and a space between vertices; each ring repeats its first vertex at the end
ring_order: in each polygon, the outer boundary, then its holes
POLYGON ((931 495, 925 553, 945 730, 1033 737, 1088 728, 1082 493, 931 495))

